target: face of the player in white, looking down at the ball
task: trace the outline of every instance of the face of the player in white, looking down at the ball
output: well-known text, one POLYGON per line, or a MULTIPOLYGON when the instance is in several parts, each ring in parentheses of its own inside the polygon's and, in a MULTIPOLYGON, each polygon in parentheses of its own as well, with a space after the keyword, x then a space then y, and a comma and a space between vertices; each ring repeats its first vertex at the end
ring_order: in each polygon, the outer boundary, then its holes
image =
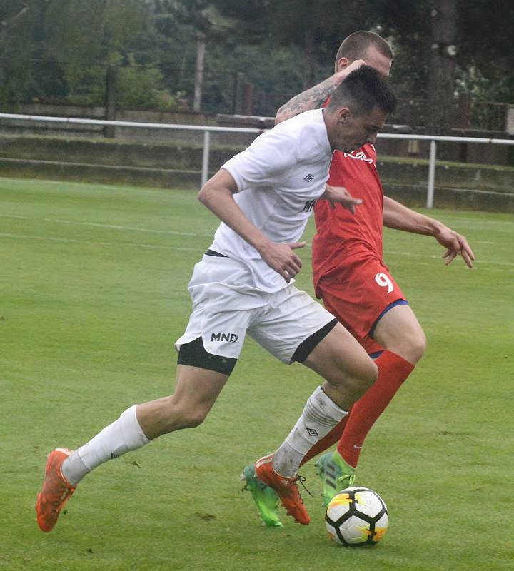
POLYGON ((333 149, 351 153, 365 143, 376 143, 378 131, 385 123, 385 113, 379 107, 373 107, 368 113, 355 116, 346 108, 338 111, 338 121, 331 133, 333 149))

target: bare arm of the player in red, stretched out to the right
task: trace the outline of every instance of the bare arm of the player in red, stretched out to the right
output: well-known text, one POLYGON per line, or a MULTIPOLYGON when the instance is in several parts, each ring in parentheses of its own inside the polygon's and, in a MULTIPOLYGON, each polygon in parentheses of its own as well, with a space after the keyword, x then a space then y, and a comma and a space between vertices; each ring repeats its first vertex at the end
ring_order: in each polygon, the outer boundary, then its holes
POLYGON ((441 246, 447 248, 442 256, 446 266, 460 255, 468 268, 473 268, 475 254, 465 236, 448 228, 435 218, 415 212, 388 196, 384 196, 383 225, 395 230, 433 236, 441 246))

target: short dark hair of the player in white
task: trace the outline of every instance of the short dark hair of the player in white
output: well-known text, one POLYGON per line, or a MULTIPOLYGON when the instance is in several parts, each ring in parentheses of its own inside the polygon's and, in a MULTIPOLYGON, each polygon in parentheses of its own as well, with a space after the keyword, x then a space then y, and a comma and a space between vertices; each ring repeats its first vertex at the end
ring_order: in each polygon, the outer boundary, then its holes
POLYGON ((378 71, 371 66, 361 66, 341 81, 327 108, 348 106, 355 115, 362 115, 377 106, 388 115, 394 113, 396 103, 395 95, 378 71))

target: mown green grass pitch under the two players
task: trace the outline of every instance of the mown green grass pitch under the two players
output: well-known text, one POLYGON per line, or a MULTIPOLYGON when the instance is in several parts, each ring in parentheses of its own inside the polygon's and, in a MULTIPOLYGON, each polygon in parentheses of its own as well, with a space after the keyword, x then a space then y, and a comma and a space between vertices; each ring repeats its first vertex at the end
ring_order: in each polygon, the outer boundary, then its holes
POLYGON ((191 192, 0 179, 0 569, 512 569, 514 216, 434 216, 478 261, 445 268, 432 239, 385 233, 428 351, 361 455, 357 482, 390 511, 380 545, 328 540, 312 463, 311 525, 260 527, 238 475, 281 443, 317 379, 251 340, 200 428, 101 466, 45 535, 46 453, 173 391, 186 285, 217 223, 191 192))

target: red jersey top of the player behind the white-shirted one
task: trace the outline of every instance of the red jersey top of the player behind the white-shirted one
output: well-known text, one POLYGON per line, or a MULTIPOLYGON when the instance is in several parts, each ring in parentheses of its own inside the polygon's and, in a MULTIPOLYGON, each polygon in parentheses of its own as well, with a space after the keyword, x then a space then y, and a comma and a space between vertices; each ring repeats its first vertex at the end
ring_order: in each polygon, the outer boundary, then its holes
POLYGON ((376 151, 366 144, 352 153, 335 151, 328 184, 344 186, 361 198, 355 214, 341 204, 331 207, 318 200, 314 206, 316 236, 312 245, 314 288, 318 281, 350 256, 372 256, 382 260, 383 189, 376 170, 376 151))

